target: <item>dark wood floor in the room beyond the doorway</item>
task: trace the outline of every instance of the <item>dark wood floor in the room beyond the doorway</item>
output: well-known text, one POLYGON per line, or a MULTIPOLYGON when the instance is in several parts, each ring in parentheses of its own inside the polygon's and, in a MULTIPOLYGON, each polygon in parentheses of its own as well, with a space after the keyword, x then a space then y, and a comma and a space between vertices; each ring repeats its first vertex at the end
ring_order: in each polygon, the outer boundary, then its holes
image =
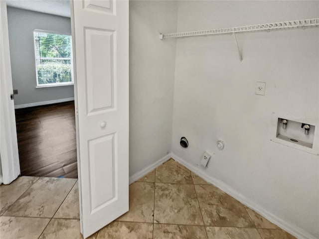
POLYGON ((21 175, 77 178, 74 102, 15 110, 21 175))

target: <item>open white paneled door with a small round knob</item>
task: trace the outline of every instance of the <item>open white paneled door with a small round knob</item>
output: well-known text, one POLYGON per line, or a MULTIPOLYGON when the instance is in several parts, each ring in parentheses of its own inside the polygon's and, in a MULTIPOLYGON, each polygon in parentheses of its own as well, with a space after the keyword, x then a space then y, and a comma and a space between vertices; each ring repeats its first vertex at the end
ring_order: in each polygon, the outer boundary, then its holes
POLYGON ((71 2, 81 231, 129 209, 129 2, 71 2))

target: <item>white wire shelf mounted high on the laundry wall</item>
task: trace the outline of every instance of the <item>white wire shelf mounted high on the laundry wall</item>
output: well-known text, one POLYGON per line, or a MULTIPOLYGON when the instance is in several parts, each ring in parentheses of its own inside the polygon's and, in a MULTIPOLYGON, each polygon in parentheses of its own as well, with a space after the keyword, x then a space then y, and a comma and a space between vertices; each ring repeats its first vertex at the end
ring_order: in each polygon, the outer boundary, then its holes
POLYGON ((264 23, 264 24, 257 24, 257 25, 217 28, 217 29, 201 30, 201 31, 186 31, 186 32, 165 33, 165 34, 160 33, 160 39, 190 37, 190 36, 205 36, 205 35, 222 35, 222 34, 232 34, 232 33, 240 33, 240 32, 288 30, 288 29, 296 29, 296 28, 308 28, 308 27, 319 27, 319 18, 280 21, 280 22, 264 23))

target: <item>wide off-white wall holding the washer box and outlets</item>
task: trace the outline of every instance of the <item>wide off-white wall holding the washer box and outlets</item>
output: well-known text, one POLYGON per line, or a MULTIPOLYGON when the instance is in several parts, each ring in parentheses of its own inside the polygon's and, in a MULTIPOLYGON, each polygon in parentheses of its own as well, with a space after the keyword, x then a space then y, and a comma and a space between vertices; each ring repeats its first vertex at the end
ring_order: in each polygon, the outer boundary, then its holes
MULTIPOLYGON (((180 1, 177 31, 318 13, 319 1, 180 1)), ((238 34, 237 40, 242 62, 232 35, 177 40, 172 152, 195 167, 205 150, 215 153, 201 172, 292 230, 319 238, 319 157, 269 136, 272 112, 318 125, 319 29, 238 34), (257 81, 267 83, 265 96, 255 95, 257 81), (189 148, 180 147, 181 136, 189 148), (225 142, 222 151, 219 139, 225 142)))

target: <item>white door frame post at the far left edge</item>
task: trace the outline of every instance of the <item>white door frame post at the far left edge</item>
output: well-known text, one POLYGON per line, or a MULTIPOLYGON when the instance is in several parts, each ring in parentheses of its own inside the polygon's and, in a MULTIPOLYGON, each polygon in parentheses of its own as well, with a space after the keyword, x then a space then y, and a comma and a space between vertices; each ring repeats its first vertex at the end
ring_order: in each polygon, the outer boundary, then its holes
POLYGON ((9 34, 6 2, 0 0, 0 183, 9 184, 20 174, 18 143, 16 138, 9 34))

